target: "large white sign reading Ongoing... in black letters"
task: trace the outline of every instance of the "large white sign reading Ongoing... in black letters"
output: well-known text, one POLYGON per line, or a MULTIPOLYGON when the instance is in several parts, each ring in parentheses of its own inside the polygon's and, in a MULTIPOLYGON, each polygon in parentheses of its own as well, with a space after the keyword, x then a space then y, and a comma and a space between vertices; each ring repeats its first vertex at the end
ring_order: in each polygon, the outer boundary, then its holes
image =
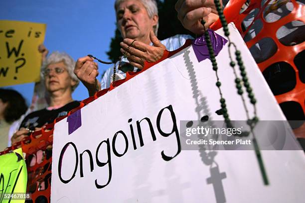
MULTIPOLYGON (((242 53, 259 118, 285 120, 232 25, 230 33, 242 53)), ((228 65, 228 44, 216 59, 230 118, 246 120, 228 65)), ((51 202, 304 202, 303 151, 261 151, 265 186, 254 151, 181 150, 180 121, 206 115, 223 120, 215 113, 220 109, 215 83, 210 60, 199 63, 189 46, 73 113, 79 119, 75 131, 68 133, 67 118, 56 123, 51 202)), ((252 117, 248 98, 246 106, 252 117)), ((285 139, 297 146, 290 128, 285 139)))

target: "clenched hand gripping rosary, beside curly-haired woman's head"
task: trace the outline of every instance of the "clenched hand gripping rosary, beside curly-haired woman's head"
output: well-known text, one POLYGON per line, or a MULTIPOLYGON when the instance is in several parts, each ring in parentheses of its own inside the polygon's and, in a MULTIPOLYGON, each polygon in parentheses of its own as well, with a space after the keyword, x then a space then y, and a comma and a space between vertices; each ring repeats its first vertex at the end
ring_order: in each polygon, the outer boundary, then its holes
MULTIPOLYGON (((89 96, 93 96, 96 93, 95 80, 99 75, 98 64, 93 60, 94 59, 89 56, 79 58, 74 68, 74 74, 88 89, 89 96)), ((99 82, 98 89, 101 89, 101 84, 99 82)))

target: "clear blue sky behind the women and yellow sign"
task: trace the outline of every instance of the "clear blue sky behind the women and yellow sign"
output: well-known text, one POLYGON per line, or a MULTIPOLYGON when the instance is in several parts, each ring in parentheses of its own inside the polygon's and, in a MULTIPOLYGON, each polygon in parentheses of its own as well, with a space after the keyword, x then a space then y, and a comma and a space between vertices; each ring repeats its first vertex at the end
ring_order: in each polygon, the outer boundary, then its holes
MULTIPOLYGON (((1 0, 0 19, 22 20, 47 25, 44 45, 52 51, 66 52, 77 60, 92 54, 108 60, 111 37, 115 34, 115 0, 1 0)), ((109 65, 99 64, 99 79, 109 65)), ((34 84, 11 86, 29 104, 34 84)), ((88 97, 80 84, 73 93, 74 100, 88 97)))

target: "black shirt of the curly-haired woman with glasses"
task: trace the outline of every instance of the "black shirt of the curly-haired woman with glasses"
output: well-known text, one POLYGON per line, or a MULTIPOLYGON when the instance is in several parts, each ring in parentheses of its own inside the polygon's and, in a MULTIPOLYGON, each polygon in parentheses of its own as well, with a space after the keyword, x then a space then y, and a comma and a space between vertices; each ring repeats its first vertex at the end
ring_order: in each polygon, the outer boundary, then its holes
POLYGON ((57 117, 67 115, 70 110, 78 107, 79 104, 79 102, 73 101, 57 109, 48 110, 44 108, 31 112, 22 120, 20 128, 24 127, 35 130, 35 127, 42 127, 47 123, 52 123, 57 117))

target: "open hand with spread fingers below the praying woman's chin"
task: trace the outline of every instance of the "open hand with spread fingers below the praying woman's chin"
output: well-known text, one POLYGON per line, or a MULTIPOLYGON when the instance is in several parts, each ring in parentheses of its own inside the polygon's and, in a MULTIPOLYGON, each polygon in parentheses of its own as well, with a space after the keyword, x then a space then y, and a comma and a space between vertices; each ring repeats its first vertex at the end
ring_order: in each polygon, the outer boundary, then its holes
POLYGON ((120 51, 134 67, 143 69, 145 60, 155 62, 163 56, 166 47, 158 40, 153 31, 150 33, 150 38, 153 46, 128 38, 120 43, 122 47, 120 51))

